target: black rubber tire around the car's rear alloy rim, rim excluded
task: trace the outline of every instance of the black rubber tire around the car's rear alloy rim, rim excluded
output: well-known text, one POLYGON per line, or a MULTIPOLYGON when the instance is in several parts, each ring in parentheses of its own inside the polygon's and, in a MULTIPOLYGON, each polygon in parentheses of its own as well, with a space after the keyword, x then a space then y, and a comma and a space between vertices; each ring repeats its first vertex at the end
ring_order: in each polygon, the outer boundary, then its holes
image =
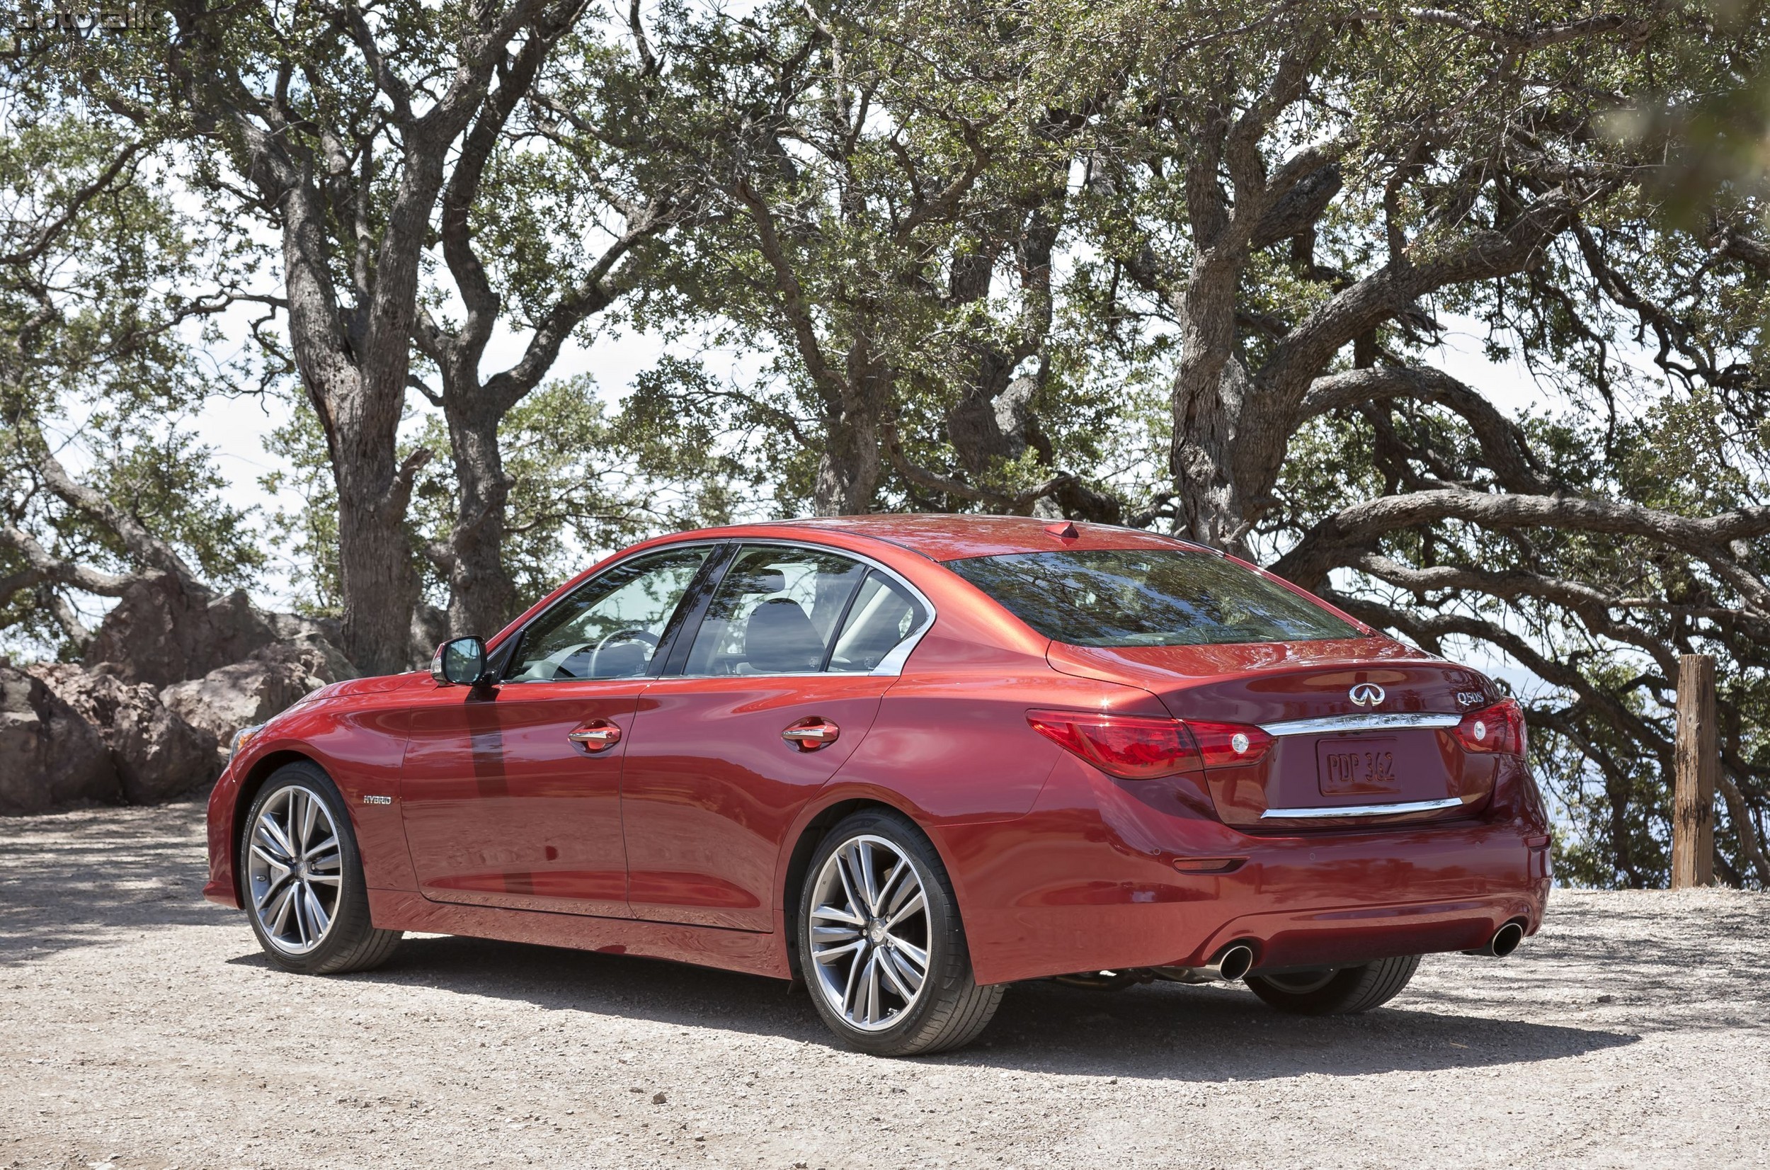
MULTIPOLYGON (((889 874, 896 878, 897 871, 890 869, 889 874)), ((881 878, 883 885, 889 883, 881 878)), ((880 917, 883 919, 883 915, 880 917)), ((947 867, 940 862, 940 855, 927 837, 897 812, 866 809, 843 820, 823 837, 811 857, 811 867, 805 871, 796 922, 800 977, 805 981, 805 989, 811 993, 818 1014, 823 1016, 823 1023, 850 1048, 876 1057, 920 1057, 961 1048, 977 1039, 1002 1004, 1002 984, 981 988, 972 979, 972 956, 965 943, 965 924, 959 920, 959 903, 952 896, 947 867), (855 1027, 844 1018, 841 1007, 830 1002, 832 993, 820 981, 818 961, 812 958, 811 929, 820 874, 825 873, 837 850, 864 839, 883 839, 903 858, 908 858, 924 897, 924 920, 915 936, 927 943, 927 966, 917 998, 906 1007, 899 1007, 883 1027, 874 1030, 855 1027)), ((857 942, 862 933, 855 931, 857 942)), ((860 959, 855 958, 851 963, 858 966, 860 959)))

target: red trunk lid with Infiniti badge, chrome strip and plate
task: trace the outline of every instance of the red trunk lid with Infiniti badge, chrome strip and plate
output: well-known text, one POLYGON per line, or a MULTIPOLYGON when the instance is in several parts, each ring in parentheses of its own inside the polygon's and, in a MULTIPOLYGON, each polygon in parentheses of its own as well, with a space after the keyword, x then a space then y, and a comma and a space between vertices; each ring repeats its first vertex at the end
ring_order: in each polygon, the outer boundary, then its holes
POLYGON ((1451 731, 1501 696, 1478 671, 1388 637, 1227 646, 1085 648, 1051 666, 1156 694, 1182 720, 1253 724, 1274 736, 1251 765, 1205 786, 1227 825, 1297 832, 1450 820, 1480 811, 1494 756, 1451 731), (1354 699, 1358 694, 1358 701, 1354 699))

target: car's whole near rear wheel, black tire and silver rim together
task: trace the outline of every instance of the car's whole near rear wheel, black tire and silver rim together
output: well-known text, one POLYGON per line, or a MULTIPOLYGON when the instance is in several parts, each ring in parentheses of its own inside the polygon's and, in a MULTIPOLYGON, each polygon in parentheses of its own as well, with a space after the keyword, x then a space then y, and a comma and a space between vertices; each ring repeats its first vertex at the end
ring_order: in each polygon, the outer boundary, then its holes
POLYGON ((913 1057, 968 1044, 1002 988, 972 979, 945 866, 904 818, 866 811, 818 846, 798 912, 800 974, 850 1046, 913 1057))

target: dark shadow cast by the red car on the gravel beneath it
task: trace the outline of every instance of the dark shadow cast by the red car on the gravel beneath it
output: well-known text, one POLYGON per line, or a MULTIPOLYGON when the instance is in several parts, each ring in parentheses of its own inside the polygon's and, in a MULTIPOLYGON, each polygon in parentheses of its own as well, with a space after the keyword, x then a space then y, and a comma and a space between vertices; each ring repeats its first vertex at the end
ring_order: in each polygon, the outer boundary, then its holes
MULTIPOLYGON (((260 954, 232 963, 262 965, 260 954)), ((612 1014, 685 1028, 839 1046, 809 993, 775 979, 655 959, 473 938, 407 938, 388 966, 347 975, 549 1011, 612 1014)), ((1267 1080, 1303 1074, 1487 1069, 1632 1044, 1620 1030, 1528 1023, 1405 1002, 1349 1018, 1285 1016, 1243 986, 1150 984, 1087 991, 1009 988, 984 1035, 926 1060, 1083 1076, 1267 1080)))

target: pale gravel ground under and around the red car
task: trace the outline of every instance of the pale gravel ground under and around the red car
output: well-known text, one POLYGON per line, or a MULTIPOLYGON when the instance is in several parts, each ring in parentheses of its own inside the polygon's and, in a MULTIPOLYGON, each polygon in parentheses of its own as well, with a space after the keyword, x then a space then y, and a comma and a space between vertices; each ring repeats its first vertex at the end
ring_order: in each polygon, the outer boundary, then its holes
POLYGON ((202 807, 0 820, 0 1166, 1761 1166, 1770 897, 1558 892, 1389 1007, 1027 984, 873 1060, 784 984, 416 936, 273 970, 202 807))

